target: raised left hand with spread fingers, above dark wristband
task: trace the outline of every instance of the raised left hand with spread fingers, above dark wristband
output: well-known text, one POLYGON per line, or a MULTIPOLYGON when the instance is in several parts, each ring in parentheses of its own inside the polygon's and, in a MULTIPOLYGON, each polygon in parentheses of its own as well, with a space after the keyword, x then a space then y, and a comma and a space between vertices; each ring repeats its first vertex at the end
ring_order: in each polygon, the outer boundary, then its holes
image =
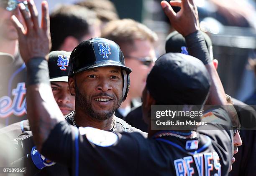
POLYGON ((47 2, 42 2, 41 26, 38 24, 38 12, 33 0, 28 0, 28 8, 30 13, 28 13, 23 3, 19 4, 19 10, 26 23, 26 30, 15 15, 11 17, 18 31, 20 55, 25 63, 36 57, 47 59, 46 56, 51 50, 50 20, 47 2))

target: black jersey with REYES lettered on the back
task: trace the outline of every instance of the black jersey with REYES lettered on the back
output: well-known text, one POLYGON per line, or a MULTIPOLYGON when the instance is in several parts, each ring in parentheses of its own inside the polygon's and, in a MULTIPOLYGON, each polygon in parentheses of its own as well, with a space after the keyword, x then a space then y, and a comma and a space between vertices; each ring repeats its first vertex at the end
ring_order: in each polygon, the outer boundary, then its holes
MULTIPOLYGON (((228 115, 226 114, 226 118, 228 115)), ((46 157, 71 167, 73 175, 222 175, 228 174, 232 133, 217 124, 197 137, 144 138, 58 123, 42 147, 46 157)))

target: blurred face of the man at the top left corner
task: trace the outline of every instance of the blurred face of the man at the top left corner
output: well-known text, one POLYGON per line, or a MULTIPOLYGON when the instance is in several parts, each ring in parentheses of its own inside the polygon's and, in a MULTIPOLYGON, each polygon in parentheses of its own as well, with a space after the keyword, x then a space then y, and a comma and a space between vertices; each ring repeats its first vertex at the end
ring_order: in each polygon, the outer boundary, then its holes
POLYGON ((23 22, 23 19, 18 8, 13 11, 6 10, 6 3, 6 0, 0 0, 0 38, 16 40, 18 39, 18 33, 11 21, 11 16, 15 15, 21 22, 23 22))

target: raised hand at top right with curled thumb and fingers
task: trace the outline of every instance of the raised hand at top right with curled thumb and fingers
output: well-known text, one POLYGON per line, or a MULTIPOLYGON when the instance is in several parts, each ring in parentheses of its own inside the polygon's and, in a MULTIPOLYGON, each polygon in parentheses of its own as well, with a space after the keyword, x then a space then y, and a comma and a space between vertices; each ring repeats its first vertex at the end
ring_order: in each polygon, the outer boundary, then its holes
POLYGON ((164 0, 161 1, 161 6, 174 29, 184 37, 200 30, 197 6, 193 0, 171 0, 170 3, 164 0), (181 10, 175 13, 171 5, 178 6, 181 10))

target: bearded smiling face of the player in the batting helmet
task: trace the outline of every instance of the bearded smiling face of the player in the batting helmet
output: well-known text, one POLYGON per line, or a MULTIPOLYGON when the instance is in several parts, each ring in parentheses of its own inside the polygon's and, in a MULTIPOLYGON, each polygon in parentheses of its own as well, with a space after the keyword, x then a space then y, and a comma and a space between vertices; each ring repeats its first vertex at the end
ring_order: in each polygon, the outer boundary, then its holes
MULTIPOLYGON (((123 78, 120 67, 99 67, 75 75, 76 110, 105 120, 113 116, 122 102, 123 78)), ((73 93, 73 92, 72 92, 73 93)))

